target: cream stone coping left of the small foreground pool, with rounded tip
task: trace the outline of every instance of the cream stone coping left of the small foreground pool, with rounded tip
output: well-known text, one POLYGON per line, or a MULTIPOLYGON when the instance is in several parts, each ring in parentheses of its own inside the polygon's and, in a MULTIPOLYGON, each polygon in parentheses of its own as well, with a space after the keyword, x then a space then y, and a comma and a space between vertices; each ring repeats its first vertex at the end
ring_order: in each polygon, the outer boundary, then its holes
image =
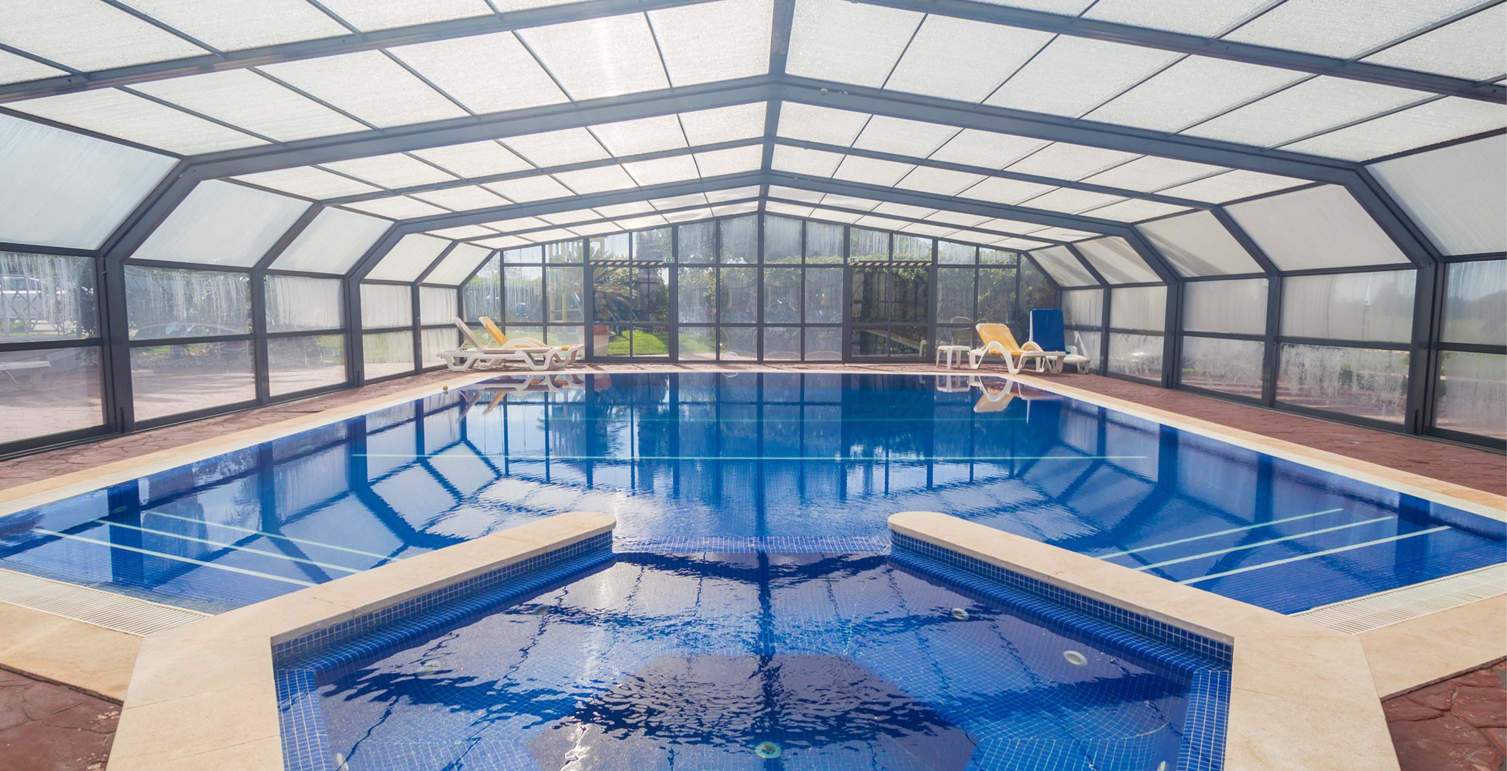
POLYGON ((384 623, 411 602, 565 554, 616 520, 567 512, 142 638, 112 771, 283 768, 274 652, 384 623))

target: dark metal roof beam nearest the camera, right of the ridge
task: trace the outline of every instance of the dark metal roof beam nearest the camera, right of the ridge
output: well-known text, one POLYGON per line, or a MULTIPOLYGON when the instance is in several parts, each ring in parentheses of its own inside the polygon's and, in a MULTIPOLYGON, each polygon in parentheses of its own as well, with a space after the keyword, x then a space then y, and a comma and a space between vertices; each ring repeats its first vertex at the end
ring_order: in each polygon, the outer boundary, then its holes
MULTIPOLYGON (((1403 89, 1444 93, 1448 96, 1463 96, 1466 99, 1481 99, 1489 102, 1507 102, 1507 89, 1490 83, 1477 83, 1466 78, 1436 75, 1430 72, 1415 72, 1392 66, 1371 65, 1334 56, 1288 51, 1284 48, 1269 48, 1236 41, 1221 41, 1200 38, 1181 32, 1154 30, 1135 27, 1114 21, 1099 21, 1093 18, 1064 17, 1029 11, 1025 8, 1007 8, 967 0, 853 0, 864 5, 898 8, 919 14, 934 14, 939 17, 967 18, 987 21, 992 24, 1008 24, 1031 30, 1050 32, 1056 35, 1071 35, 1074 38, 1090 38, 1096 41, 1139 45, 1142 48, 1157 48, 1181 54, 1209 56, 1213 59, 1228 59, 1251 65, 1275 66, 1295 72, 1310 72, 1314 75, 1331 75, 1365 83, 1380 83, 1403 89)), ((1472 9, 1475 11, 1475 9, 1472 9)), ((1316 20, 1317 23, 1317 20, 1316 20)))

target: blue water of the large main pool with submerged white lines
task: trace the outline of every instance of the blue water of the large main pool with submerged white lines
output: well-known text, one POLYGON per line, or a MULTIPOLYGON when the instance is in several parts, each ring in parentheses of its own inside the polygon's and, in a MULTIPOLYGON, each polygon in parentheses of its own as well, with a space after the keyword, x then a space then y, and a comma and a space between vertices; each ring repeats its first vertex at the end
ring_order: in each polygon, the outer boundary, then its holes
POLYGON ((567 510, 616 515, 625 545, 883 551, 886 518, 919 509, 1293 613, 1507 556, 1501 521, 1004 379, 567 379, 499 378, 3 517, 0 566, 219 611, 567 510))

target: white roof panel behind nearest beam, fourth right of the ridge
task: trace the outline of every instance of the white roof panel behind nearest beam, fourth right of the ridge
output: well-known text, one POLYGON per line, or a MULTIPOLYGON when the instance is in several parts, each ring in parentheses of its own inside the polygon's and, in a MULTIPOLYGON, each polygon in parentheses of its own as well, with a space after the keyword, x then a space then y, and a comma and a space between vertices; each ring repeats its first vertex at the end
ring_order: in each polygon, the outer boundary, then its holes
POLYGON ((1189 56, 1084 117, 1153 131, 1180 131, 1304 77, 1291 69, 1189 56))

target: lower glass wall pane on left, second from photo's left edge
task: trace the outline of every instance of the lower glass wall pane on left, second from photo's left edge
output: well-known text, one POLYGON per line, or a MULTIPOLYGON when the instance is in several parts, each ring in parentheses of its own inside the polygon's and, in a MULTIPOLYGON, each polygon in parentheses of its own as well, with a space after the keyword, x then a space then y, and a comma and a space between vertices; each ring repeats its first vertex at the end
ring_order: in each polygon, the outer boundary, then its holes
POLYGON ((250 340, 131 348, 136 420, 256 399, 250 340))

